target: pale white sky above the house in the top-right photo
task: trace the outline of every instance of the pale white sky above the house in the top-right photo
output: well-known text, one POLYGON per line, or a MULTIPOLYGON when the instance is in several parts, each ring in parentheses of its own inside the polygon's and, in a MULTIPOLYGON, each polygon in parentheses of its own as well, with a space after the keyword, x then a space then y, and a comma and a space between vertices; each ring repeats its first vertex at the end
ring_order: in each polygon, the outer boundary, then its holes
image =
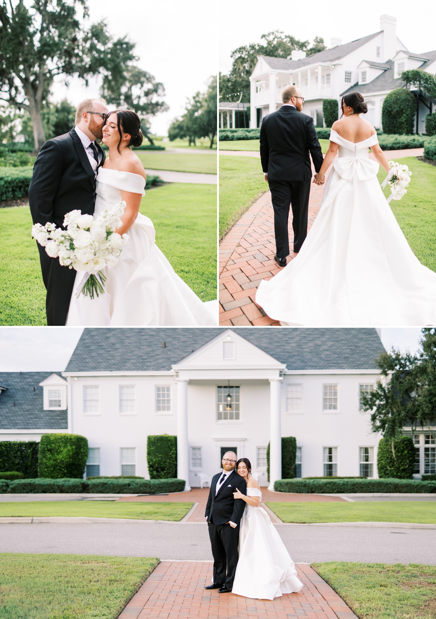
POLYGON ((289 2, 251 0, 235 19, 233 9, 223 4, 220 24, 220 71, 231 69, 230 53, 241 45, 260 43, 260 37, 271 30, 312 42, 322 37, 330 47, 332 37, 349 43, 380 30, 380 15, 396 17, 396 35, 409 51, 423 53, 436 49, 434 22, 436 6, 425 0, 414 5, 409 0, 365 0, 365 2, 333 3, 325 0, 289 2), (225 7, 225 8, 224 8, 225 7))

